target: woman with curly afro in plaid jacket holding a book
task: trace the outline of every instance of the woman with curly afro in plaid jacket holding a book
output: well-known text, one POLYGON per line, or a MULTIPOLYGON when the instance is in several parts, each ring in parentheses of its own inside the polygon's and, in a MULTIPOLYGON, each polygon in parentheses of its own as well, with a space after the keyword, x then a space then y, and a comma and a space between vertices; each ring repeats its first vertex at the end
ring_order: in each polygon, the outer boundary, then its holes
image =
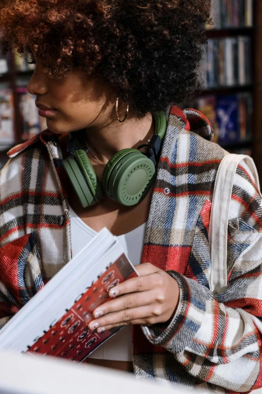
POLYGON ((90 329, 127 327, 88 362, 220 391, 259 387, 261 199, 241 163, 229 214, 228 289, 214 296, 207 230, 226 152, 210 142, 201 114, 174 106, 198 89, 209 1, 2 0, 1 6, 4 52, 16 47, 36 62, 28 90, 48 126, 11 149, 1 172, 1 325, 106 226, 130 260, 139 264, 142 256, 144 264, 139 278, 114 287, 115 298, 94 311, 90 329), (120 150, 150 154, 140 145, 152 145, 163 110, 154 188, 132 206, 107 193, 83 208, 62 164, 67 147, 74 150, 69 133, 81 136, 96 187, 120 150))

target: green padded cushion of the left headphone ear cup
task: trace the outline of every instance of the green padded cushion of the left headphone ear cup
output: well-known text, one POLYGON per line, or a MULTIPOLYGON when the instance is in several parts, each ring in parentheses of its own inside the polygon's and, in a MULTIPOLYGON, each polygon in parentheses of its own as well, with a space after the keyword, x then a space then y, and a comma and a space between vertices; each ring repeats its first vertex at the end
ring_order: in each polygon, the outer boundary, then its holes
POLYGON ((74 151, 74 156, 88 183, 88 186, 90 187, 90 190, 96 202, 101 201, 103 198, 103 191, 101 189, 101 185, 96 176, 96 173, 93 169, 93 166, 91 165, 91 162, 87 157, 86 152, 82 149, 78 149, 74 151))

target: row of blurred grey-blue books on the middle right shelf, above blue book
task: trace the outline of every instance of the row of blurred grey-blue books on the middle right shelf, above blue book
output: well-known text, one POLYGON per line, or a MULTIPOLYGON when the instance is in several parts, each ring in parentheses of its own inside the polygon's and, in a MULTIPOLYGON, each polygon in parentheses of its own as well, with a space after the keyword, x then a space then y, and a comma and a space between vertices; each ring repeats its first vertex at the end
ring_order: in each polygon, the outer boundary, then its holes
POLYGON ((248 36, 210 38, 206 49, 206 88, 252 83, 251 39, 248 36))

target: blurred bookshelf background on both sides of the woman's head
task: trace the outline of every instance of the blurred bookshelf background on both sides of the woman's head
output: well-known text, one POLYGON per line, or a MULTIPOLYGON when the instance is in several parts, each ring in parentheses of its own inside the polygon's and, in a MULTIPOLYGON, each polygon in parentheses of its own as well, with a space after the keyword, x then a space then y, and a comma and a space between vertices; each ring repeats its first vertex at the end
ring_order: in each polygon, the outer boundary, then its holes
MULTIPOLYGON (((214 142, 252 156, 262 181, 262 0, 212 0, 212 17, 199 71, 203 92, 181 106, 207 116, 214 142)), ((46 128, 26 88, 33 71, 19 55, 0 55, 0 169, 10 147, 46 128)))

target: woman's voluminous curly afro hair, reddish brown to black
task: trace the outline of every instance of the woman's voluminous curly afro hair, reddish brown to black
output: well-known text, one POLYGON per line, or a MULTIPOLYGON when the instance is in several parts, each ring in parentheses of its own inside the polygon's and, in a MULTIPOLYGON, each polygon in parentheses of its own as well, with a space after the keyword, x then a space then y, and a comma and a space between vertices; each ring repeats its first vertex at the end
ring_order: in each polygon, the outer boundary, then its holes
POLYGON ((3 53, 30 48, 50 77, 73 67, 117 94, 138 117, 200 89, 210 0, 0 0, 3 53), (123 95, 126 96, 126 95, 123 95))

